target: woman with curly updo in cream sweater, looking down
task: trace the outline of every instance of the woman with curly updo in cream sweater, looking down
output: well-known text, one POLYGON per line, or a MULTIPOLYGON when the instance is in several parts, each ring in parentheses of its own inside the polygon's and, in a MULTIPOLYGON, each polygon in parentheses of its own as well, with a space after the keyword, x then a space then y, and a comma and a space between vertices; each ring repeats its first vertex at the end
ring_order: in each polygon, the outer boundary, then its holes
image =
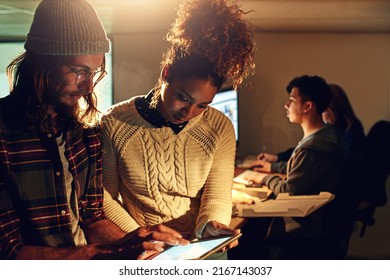
POLYGON ((254 68, 243 14, 225 0, 183 4, 156 87, 103 116, 105 212, 122 229, 162 223, 196 238, 237 233, 228 227, 234 129, 208 105, 254 68))

